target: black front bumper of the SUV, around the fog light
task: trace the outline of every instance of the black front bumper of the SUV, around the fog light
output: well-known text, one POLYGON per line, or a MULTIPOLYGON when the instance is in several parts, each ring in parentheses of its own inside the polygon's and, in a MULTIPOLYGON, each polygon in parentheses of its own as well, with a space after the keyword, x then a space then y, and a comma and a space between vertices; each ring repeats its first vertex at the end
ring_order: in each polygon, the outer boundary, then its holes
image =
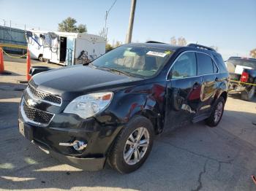
POLYGON ((39 145, 40 148, 48 150, 50 155, 61 163, 67 163, 86 171, 98 171, 104 168, 105 160, 108 155, 108 149, 120 126, 116 125, 101 125, 97 120, 77 121, 75 125, 74 116, 67 115, 66 120, 69 123, 59 121, 58 114, 48 127, 40 127, 29 124, 19 115, 18 126, 20 133, 39 145), (59 143, 69 143, 75 140, 85 141, 86 149, 78 151, 73 147, 63 147, 59 143))

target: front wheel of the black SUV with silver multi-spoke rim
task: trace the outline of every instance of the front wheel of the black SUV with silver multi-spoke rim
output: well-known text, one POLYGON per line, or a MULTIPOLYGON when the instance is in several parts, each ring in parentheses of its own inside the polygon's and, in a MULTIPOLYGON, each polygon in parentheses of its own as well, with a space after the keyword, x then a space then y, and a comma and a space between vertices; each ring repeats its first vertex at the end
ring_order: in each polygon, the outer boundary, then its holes
POLYGON ((132 118, 119 133, 110 151, 108 164, 121 174, 136 171, 151 152, 153 140, 151 121, 143 116, 132 118))

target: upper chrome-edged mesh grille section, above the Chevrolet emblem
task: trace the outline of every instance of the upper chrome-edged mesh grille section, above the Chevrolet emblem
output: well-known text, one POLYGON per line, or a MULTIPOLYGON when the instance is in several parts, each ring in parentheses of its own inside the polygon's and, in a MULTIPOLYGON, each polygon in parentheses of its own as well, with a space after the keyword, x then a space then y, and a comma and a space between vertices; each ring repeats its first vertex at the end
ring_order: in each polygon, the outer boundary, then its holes
POLYGON ((49 101, 53 104, 61 104, 61 98, 57 97, 56 95, 51 95, 50 93, 44 93, 42 91, 39 91, 34 87, 31 87, 31 85, 28 85, 28 87, 30 92, 37 98, 41 98, 42 101, 49 101))

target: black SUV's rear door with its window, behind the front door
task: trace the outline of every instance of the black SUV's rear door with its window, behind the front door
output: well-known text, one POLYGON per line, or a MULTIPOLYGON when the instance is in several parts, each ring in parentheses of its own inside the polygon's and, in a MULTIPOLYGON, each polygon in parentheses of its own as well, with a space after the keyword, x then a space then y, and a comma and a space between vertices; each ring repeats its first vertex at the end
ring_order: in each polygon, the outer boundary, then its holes
POLYGON ((198 115, 208 114, 211 111, 211 105, 214 104, 214 97, 218 87, 218 68, 209 55, 197 52, 197 75, 203 77, 203 83, 200 94, 200 108, 198 115))

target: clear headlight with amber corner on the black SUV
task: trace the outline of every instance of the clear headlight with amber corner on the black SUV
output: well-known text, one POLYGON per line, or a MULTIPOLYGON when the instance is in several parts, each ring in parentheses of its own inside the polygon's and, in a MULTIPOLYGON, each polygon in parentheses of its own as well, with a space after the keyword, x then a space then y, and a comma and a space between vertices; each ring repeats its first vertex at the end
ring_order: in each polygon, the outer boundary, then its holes
POLYGON ((81 95, 71 101, 64 113, 78 114, 83 119, 94 116, 105 109, 113 97, 113 93, 90 93, 87 95, 81 95))

